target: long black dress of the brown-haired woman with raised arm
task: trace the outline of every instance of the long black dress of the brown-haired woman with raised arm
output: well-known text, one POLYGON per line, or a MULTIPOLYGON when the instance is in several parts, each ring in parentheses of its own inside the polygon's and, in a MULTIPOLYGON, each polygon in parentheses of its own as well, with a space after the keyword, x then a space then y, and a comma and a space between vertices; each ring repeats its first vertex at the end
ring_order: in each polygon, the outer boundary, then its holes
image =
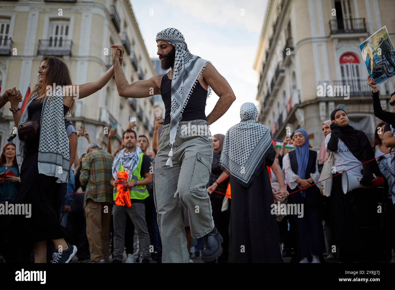
MULTIPOLYGON (((40 124, 42 100, 33 100, 28 106, 28 121, 40 124)), ((63 105, 66 116, 69 108, 63 105)), ((62 120, 59 120, 61 122, 62 120)), ((35 138, 26 142, 26 155, 21 166, 21 183, 15 203, 31 204, 31 217, 15 215, 8 232, 14 232, 13 238, 21 243, 36 243, 51 239, 64 238, 65 232, 60 226, 60 184, 55 176, 39 174, 38 148, 40 145, 40 128, 35 138), (16 232, 15 232, 16 230, 16 232)))

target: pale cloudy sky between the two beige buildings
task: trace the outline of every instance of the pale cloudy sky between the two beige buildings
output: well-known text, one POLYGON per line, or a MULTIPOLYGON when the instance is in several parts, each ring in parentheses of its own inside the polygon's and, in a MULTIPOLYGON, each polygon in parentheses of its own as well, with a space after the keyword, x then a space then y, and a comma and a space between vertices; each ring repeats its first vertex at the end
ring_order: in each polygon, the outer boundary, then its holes
MULTIPOLYGON (((210 126, 225 134, 240 122, 240 107, 255 101, 258 73, 254 63, 267 0, 130 0, 149 56, 157 58, 155 37, 165 28, 180 30, 192 54, 210 60, 228 80, 236 101, 210 126), (244 14, 244 15, 243 15, 244 14)), ((206 115, 218 96, 207 100, 206 115)))

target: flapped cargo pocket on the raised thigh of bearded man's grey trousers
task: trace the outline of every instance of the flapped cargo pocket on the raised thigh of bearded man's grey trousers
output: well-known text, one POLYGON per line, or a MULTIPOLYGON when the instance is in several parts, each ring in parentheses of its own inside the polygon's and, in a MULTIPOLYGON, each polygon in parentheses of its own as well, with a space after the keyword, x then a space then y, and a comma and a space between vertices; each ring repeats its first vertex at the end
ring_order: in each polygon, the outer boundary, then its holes
POLYGON ((211 174, 211 160, 208 156, 197 152, 195 166, 192 170, 189 191, 206 195, 206 185, 211 174))

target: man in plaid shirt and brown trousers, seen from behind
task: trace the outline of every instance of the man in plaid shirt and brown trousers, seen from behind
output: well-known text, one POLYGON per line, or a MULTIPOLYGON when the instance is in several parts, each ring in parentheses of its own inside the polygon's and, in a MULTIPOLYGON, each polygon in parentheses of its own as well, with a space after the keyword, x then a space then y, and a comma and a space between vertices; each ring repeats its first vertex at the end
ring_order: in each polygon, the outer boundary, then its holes
POLYGON ((111 167, 113 156, 96 144, 88 145, 88 154, 82 164, 79 180, 86 185, 85 216, 87 238, 92 262, 108 262, 109 232, 113 208, 111 167))

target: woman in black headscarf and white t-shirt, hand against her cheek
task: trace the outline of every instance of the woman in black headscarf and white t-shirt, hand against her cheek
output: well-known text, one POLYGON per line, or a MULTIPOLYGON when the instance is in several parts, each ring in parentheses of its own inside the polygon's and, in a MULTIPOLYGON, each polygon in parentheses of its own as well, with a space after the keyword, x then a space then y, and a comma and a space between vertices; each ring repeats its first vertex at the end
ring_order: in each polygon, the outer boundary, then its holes
POLYGON ((347 113, 342 109, 335 109, 331 114, 332 132, 325 138, 327 152, 335 153, 335 173, 355 167, 347 171, 347 175, 350 178, 361 177, 359 188, 345 195, 342 191, 342 175, 333 177, 331 244, 335 245, 335 248, 332 251, 339 254, 341 262, 380 261, 384 257, 379 243, 380 213, 377 209, 380 193, 388 192, 388 187, 385 184, 387 189, 371 189, 373 174, 383 175, 365 133, 355 130, 348 123, 347 113), (362 163, 365 164, 358 166, 362 163))

